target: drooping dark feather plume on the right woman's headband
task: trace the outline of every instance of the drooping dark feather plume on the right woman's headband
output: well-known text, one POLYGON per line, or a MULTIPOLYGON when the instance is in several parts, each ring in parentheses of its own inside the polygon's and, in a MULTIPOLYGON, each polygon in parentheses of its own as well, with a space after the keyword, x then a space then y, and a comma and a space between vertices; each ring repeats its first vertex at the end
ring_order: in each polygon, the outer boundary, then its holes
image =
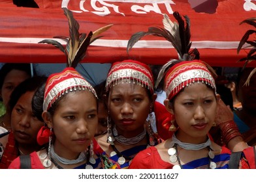
MULTIPOLYGON (((161 36, 168 40, 172 44, 172 46, 176 49, 178 53, 178 60, 172 59, 167 62, 167 64, 163 65, 161 68, 161 71, 159 72, 159 75, 157 77, 157 81, 155 82, 155 88, 159 85, 160 81, 165 76, 167 68, 172 66, 173 64, 176 64, 177 62, 181 62, 184 60, 195 60, 200 59, 199 51, 195 48, 191 51, 191 44, 190 41, 191 33, 190 33, 190 19, 188 16, 184 16, 184 19, 178 12, 173 13, 174 18, 178 21, 172 22, 170 18, 168 18, 167 14, 163 15, 163 26, 161 27, 150 27, 148 28, 148 32, 136 32, 133 34, 128 41, 127 44, 127 52, 129 53, 129 50, 135 45, 140 38, 146 35, 153 35, 153 36, 161 36)), ((209 68, 209 70, 216 75, 214 70, 206 64, 206 66, 209 68)))

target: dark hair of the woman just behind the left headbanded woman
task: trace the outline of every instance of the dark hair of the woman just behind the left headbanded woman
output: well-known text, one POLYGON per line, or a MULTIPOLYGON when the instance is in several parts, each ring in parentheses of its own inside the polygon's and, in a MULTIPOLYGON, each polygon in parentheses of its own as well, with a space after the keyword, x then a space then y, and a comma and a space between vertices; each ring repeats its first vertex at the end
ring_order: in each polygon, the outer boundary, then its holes
POLYGON ((18 102, 18 99, 20 99, 23 94, 25 94, 26 92, 33 92, 37 90, 39 86, 46 82, 46 79, 47 77, 45 76, 31 77, 16 86, 16 88, 14 88, 12 94, 10 95, 10 101, 8 102, 7 109, 9 113, 11 113, 12 109, 18 102))

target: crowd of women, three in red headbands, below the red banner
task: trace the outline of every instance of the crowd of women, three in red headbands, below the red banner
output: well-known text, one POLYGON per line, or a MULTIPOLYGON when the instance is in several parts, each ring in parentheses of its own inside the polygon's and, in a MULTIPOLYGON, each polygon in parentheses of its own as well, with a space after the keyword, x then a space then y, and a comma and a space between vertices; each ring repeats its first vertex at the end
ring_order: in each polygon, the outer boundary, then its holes
POLYGON ((84 57, 48 77, 5 64, 0 168, 255 168, 256 74, 244 85, 251 68, 239 72, 242 108, 233 110, 231 88, 224 95, 215 70, 188 51, 157 74, 138 60, 114 62, 97 86, 76 70, 84 57))

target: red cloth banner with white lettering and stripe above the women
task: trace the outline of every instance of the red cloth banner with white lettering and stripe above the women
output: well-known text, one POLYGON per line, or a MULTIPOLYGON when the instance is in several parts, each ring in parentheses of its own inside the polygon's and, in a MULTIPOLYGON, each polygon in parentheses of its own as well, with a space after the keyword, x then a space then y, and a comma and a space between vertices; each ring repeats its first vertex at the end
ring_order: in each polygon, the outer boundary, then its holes
MULTIPOLYGON (((88 48, 83 62, 111 63, 123 59, 136 59, 147 64, 165 64, 178 55, 164 38, 146 36, 127 54, 126 46, 131 35, 148 31, 148 27, 163 27, 163 14, 176 21, 174 11, 189 16, 192 48, 200 52, 200 59, 211 66, 240 67, 237 60, 246 57, 249 49, 236 53, 240 39, 255 17, 255 1, 218 0, 214 14, 195 12, 186 0, 106 0, 106 1, 50 1, 35 0, 39 8, 0 3, 0 62, 60 63, 65 55, 53 45, 38 44, 54 36, 69 36, 67 18, 61 6, 73 11, 80 23, 80 32, 95 31, 114 24, 103 37, 88 48), (254 3, 253 3, 254 2, 254 3)), ((65 44, 65 42, 63 42, 65 44)), ((256 66, 251 62, 248 66, 256 66)))

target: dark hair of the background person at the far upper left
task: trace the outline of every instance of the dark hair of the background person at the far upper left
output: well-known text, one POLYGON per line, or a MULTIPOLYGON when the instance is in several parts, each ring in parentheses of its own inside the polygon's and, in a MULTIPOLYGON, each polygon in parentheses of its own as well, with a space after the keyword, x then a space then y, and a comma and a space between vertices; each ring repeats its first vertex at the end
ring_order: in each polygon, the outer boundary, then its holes
MULTIPOLYGON (((12 70, 23 71, 31 77, 31 65, 29 63, 6 63, 3 65, 3 67, 0 70, 0 89, 3 86, 3 81, 5 80, 5 77, 12 70)), ((33 73, 34 75, 36 75, 34 69, 33 69, 33 73)))

